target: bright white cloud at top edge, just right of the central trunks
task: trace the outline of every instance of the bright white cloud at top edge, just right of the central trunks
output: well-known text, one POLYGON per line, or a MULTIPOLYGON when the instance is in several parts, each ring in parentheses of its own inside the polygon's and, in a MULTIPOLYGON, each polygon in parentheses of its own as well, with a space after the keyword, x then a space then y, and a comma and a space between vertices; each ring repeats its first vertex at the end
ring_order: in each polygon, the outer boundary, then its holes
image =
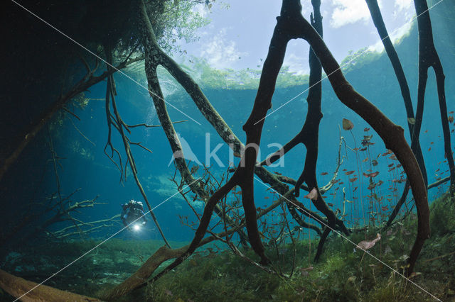
POLYGON ((332 3, 335 6, 330 21, 333 28, 371 18, 365 0, 333 0, 332 3))

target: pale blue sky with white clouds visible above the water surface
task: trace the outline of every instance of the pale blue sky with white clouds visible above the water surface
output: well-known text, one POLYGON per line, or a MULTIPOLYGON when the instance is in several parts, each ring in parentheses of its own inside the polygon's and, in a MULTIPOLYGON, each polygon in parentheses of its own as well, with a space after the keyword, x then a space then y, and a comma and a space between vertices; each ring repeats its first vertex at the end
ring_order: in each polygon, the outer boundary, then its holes
MULTIPOLYGON (((210 9, 201 4, 196 10, 211 22, 198 30, 198 41, 181 42, 181 49, 190 56, 205 57, 218 69, 261 69, 281 4, 279 0, 217 0, 210 9)), ((311 1, 301 4, 309 20, 311 1)), ((409 31, 415 16, 412 0, 380 0, 379 5, 392 40, 409 31)), ((324 40, 338 62, 364 47, 383 49, 365 0, 322 0, 321 14, 324 40)), ((296 74, 308 74, 308 55, 304 40, 292 40, 284 65, 296 74)), ((178 60, 183 62, 183 57, 178 60)))

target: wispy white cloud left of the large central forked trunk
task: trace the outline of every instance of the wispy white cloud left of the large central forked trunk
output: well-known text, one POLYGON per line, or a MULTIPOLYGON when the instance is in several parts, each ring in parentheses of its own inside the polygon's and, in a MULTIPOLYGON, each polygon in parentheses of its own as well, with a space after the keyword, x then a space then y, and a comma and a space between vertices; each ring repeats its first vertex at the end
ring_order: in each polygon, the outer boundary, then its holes
POLYGON ((218 34, 213 35, 213 39, 204 45, 204 49, 200 52, 201 57, 205 57, 212 67, 218 69, 228 68, 232 62, 247 55, 247 52, 238 51, 235 42, 226 40, 225 37, 226 28, 223 28, 218 34))

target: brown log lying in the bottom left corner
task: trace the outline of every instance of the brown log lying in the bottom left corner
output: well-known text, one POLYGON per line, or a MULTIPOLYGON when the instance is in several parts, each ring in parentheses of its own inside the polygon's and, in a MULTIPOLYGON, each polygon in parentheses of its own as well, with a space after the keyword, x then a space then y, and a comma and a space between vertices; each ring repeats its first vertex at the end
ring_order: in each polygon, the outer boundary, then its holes
POLYGON ((35 301, 101 301, 97 298, 78 295, 69 291, 61 291, 46 285, 38 285, 36 282, 27 281, 8 274, 0 269, 0 287, 14 298, 21 298, 24 302, 35 301), (36 287, 37 286, 37 287, 36 287), (36 287, 36 289, 33 289, 36 287), (32 290, 33 289, 33 290, 32 290), (30 291, 30 293, 27 293, 30 291), (23 296, 23 294, 26 296, 23 296), (23 296, 23 297, 22 297, 23 296))

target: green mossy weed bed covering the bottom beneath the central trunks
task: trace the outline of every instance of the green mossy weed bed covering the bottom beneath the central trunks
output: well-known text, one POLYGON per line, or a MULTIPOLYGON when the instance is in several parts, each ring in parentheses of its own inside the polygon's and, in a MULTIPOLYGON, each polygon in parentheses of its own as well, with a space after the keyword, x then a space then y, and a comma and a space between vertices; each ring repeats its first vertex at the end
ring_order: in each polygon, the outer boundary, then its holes
MULTIPOLYGON (((445 268, 441 267, 439 259, 432 259, 432 255, 444 253, 455 248, 455 241, 447 241, 447 236, 441 234, 441 225, 435 221, 443 221, 453 217, 455 209, 453 199, 445 195, 432 203, 432 208, 450 204, 449 211, 432 212, 432 236, 422 250, 422 262, 417 265, 417 274, 412 281, 416 281, 438 298, 445 299, 454 296, 454 280, 445 276, 454 273, 455 255, 444 258, 445 268), (436 235, 438 234, 438 235, 436 235), (435 247, 439 247, 437 252, 435 247), (437 274, 443 269, 443 274, 437 274), (444 298, 445 297, 445 298, 444 298)), ((403 237, 412 237, 405 230, 415 223, 415 218, 408 217, 394 225, 383 238, 381 245, 372 248, 372 253, 380 257, 385 264, 390 265, 397 272, 404 272, 406 257, 397 257, 407 250, 403 246, 403 237), (387 252, 392 250, 393 252, 387 252), (381 255, 381 256, 380 256, 381 255)), ((375 232, 371 228, 368 233, 375 232)), ((442 230, 446 230, 443 227, 442 230)), ((455 228, 451 228, 451 237, 454 239, 455 228)), ((360 233, 353 234, 350 239, 360 238, 360 233)), ((288 246, 291 250, 292 246, 288 246)), ((434 301, 432 297, 420 292, 415 286, 407 282, 400 274, 393 272, 375 259, 361 253, 353 253, 353 245, 341 237, 332 236, 326 243, 326 252, 321 262, 309 266, 308 240, 301 240, 294 246, 299 255, 293 276, 267 274, 261 269, 252 267, 239 259, 232 252, 218 252, 210 257, 195 255, 188 262, 182 264, 176 272, 163 276, 159 281, 149 286, 144 294, 159 301, 205 301, 208 296, 220 301, 434 301), (362 259, 362 261, 360 261, 362 259), (216 289, 215 292, 206 289, 216 289)), ((250 251, 250 255, 251 255, 250 251)), ((247 253, 248 254, 248 253, 247 253)), ((273 251, 269 251, 272 255, 273 251)), ((407 256, 407 255, 404 255, 407 256)), ((282 263, 288 267, 292 263, 292 253, 284 252, 282 263)), ((272 259, 276 263, 277 259, 272 259)))

